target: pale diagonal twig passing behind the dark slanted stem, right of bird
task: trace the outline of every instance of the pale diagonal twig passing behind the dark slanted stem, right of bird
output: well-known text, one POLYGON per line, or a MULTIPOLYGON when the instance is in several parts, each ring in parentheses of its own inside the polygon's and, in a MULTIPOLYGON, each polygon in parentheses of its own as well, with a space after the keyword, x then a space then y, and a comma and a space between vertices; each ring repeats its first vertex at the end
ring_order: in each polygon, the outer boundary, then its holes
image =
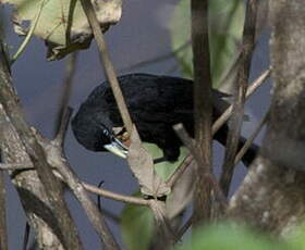
MULTIPOLYGON (((260 87, 265 80, 270 76, 271 70, 266 70, 259 77, 257 77, 248 87, 247 92, 246 92, 246 98, 248 98, 251 95, 253 95, 255 92, 255 90, 258 89, 258 87, 260 87)), ((212 124, 212 135, 215 135, 219 128, 228 122, 228 120, 230 118, 231 114, 233 111, 233 105, 230 105, 222 114, 221 116, 215 121, 215 123, 212 124)))

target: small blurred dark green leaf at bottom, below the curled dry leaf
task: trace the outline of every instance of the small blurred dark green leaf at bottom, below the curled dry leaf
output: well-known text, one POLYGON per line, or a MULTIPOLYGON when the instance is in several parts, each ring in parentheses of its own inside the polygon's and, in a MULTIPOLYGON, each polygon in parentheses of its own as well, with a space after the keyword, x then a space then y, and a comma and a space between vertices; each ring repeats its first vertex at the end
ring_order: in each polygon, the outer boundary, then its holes
POLYGON ((146 207, 126 204, 122 212, 122 238, 130 250, 146 250, 154 236, 154 215, 146 207))

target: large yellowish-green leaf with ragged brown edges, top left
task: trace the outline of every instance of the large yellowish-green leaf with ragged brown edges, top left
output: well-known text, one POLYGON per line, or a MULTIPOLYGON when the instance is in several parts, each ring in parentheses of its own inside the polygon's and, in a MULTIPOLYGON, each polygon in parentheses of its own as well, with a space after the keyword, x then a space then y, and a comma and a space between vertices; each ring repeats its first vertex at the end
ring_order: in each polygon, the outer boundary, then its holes
MULTIPOLYGON (((41 4, 41 0, 0 0, 1 3, 13 4, 15 30, 25 35, 28 30, 24 21, 33 22, 41 4)), ((103 30, 121 17, 122 0, 93 1, 98 22, 103 30)), ((89 46, 91 29, 87 17, 77 0, 47 0, 44 4, 39 22, 34 35, 42 38, 48 46, 48 59, 61 59, 66 53, 89 46)))

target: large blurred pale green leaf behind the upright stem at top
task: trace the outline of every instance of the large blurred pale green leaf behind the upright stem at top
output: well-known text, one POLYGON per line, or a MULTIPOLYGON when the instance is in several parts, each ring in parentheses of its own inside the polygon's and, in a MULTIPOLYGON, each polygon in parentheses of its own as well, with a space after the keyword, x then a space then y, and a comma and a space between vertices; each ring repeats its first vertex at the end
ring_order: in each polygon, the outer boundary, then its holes
MULTIPOLYGON (((244 24, 244 1, 209 1, 209 45, 213 87, 219 87, 228 67, 235 60, 237 45, 244 24)), ((172 50, 185 77, 193 78, 193 55, 191 48, 190 0, 180 0, 171 20, 172 50), (188 42, 186 49, 181 49, 188 42)))

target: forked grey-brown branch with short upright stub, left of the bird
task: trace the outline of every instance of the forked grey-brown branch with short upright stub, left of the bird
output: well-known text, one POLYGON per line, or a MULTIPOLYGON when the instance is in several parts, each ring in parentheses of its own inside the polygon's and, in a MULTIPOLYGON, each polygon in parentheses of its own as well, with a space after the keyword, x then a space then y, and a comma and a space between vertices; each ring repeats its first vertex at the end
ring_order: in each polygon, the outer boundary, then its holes
MULTIPOLYGON (((5 65, 1 64, 1 73, 5 72, 5 65)), ((7 71, 8 72, 8 71, 7 71)), ((16 127, 16 132, 19 133, 20 138, 27 150, 27 154, 30 157, 32 162, 29 164, 34 164, 36 170, 40 173, 39 176, 42 179, 44 185, 46 186, 47 197, 50 199, 53 208, 54 217, 59 221, 60 230, 64 232, 58 233, 61 236, 61 241, 65 249, 82 249, 82 243, 77 237, 76 228, 73 225, 73 221, 70 218, 70 214, 68 212, 68 216, 65 215, 65 203, 64 198, 62 197, 62 189, 59 180, 52 174, 52 165, 57 167, 57 170, 64 177, 71 190, 74 192, 76 198, 80 200, 83 205, 85 212, 87 213, 91 224, 96 228, 97 233, 100 236, 100 239, 107 246, 107 249, 117 250, 119 246, 114 241, 114 238, 110 234, 105 221, 101 217, 100 212, 96 208, 95 203, 90 200, 87 192, 82 186, 82 183, 77 179, 76 175, 71 171, 68 162, 65 161, 62 152, 62 142, 68 125, 68 121, 70 117, 70 110, 65 113, 66 117, 62 118, 62 124, 60 126, 59 137, 57 137, 53 141, 48 141, 42 138, 37 132, 33 128, 29 128, 27 124, 24 122, 22 117, 21 109, 17 104, 15 104, 14 100, 16 97, 12 92, 11 79, 9 75, 1 74, 3 76, 1 78, 0 85, 0 101, 8 110, 8 112, 2 112, 3 115, 10 117, 4 118, 4 121, 12 121, 13 125, 16 127), (40 166, 41 164, 41 166, 40 166), (44 165, 45 164, 45 165, 44 165), (38 165, 38 166, 37 166, 38 165), (39 168, 41 167, 41 168, 39 168), (44 167, 44 168, 42 168, 44 167), (47 172, 46 172, 47 170, 47 172), (40 171, 40 172, 39 172, 40 171), (53 176, 52 178, 50 176, 53 176), (49 186, 48 186, 49 185, 49 186), (60 188, 60 190, 57 190, 60 188), (50 193, 51 192, 51 193, 50 193), (58 197, 56 197, 58 196, 58 197), (59 203, 59 204, 58 204, 59 203), (66 217, 65 217, 66 216, 66 217), (71 220, 69 222, 68 220, 71 220), (76 237, 76 238, 75 238, 76 237)), ((2 108, 2 105, 1 105, 2 108)), ((1 117, 3 117, 3 115, 1 117)))

